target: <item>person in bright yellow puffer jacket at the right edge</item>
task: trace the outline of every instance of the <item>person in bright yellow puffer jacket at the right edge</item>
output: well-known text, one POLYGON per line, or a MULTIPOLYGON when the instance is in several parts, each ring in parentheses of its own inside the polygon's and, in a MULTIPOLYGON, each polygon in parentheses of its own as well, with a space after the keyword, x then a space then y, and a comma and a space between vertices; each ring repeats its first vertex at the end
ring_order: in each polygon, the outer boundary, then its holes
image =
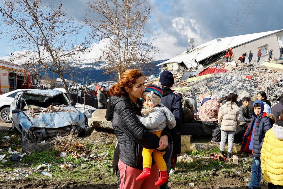
POLYGON ((283 188, 283 110, 280 121, 265 133, 260 151, 261 170, 268 188, 283 188))

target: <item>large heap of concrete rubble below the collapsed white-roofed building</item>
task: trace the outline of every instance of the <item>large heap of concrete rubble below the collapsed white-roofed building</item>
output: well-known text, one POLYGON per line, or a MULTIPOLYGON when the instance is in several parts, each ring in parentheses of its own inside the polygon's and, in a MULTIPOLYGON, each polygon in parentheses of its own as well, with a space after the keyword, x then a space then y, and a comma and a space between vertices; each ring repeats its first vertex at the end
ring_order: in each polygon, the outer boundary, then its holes
MULTIPOLYGON (((179 72, 174 74, 172 89, 181 92, 184 97, 188 92, 192 92, 196 99, 207 91, 212 91, 213 95, 223 96, 233 91, 238 95, 238 99, 265 91, 274 105, 277 103, 277 97, 283 93, 283 65, 281 64, 283 64, 282 60, 274 59, 263 60, 259 63, 223 62, 220 65, 213 64, 210 68, 226 69, 228 70, 226 73, 217 72, 201 76, 197 74, 185 81, 180 81, 180 78, 184 71, 190 70, 178 69, 179 72)), ((152 78, 146 80, 145 86, 158 80, 158 77, 152 78)))

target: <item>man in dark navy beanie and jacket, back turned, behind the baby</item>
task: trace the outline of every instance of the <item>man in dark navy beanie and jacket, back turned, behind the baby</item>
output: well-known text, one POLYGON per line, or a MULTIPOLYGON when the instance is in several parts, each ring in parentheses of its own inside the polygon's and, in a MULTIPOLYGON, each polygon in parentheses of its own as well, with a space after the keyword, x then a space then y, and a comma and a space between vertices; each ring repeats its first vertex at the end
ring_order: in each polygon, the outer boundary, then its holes
MULTIPOLYGON (((162 85, 163 95, 161 98, 161 103, 166 106, 174 115, 176 119, 176 127, 173 129, 168 129, 168 132, 172 136, 172 143, 168 144, 170 150, 166 151, 163 159, 166 162, 167 174, 174 174, 175 166, 177 163, 177 154, 181 153, 181 120, 183 116, 182 101, 179 95, 175 94, 171 87, 174 84, 173 74, 169 71, 162 72, 159 78, 159 82, 162 85)), ((160 189, 167 189, 168 181, 160 186, 160 189)))

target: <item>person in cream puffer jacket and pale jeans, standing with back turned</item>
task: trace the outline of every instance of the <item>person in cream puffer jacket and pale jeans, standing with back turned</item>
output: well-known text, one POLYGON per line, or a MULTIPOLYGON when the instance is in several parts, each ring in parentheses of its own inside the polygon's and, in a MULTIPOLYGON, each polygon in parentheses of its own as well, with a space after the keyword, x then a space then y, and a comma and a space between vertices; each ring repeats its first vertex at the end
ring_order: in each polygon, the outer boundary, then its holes
POLYGON ((227 159, 231 157, 236 126, 238 126, 241 121, 240 107, 237 106, 236 101, 236 94, 230 93, 227 98, 227 103, 220 107, 217 117, 218 123, 221 125, 220 152, 222 155, 224 155, 225 143, 228 135, 227 159))

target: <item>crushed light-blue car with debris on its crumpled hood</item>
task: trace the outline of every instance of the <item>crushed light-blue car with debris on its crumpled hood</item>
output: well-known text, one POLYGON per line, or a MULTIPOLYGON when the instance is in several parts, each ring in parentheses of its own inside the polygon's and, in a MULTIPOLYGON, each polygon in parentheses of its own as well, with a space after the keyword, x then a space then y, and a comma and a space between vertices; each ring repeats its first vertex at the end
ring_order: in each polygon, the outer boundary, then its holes
POLYGON ((15 95, 11 104, 12 127, 22 140, 43 141, 56 135, 85 133, 84 115, 58 90, 27 90, 15 95))

